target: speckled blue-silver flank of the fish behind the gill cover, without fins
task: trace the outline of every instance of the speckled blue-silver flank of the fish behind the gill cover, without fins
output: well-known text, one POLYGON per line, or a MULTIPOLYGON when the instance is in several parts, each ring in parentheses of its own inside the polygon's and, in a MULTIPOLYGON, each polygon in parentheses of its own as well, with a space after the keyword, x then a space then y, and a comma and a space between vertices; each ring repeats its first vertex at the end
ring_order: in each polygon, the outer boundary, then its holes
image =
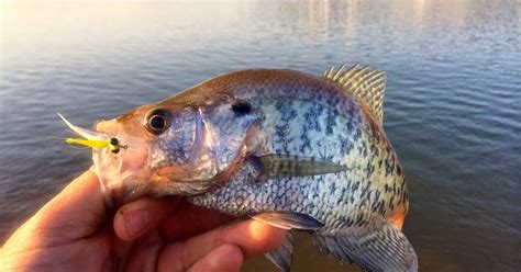
POLYGON ((256 182, 259 172, 246 162, 223 186, 191 197, 193 204, 237 216, 303 213, 324 223, 323 233, 407 212, 406 178, 395 150, 353 98, 317 77, 259 73, 232 75, 220 83, 232 82, 235 97, 256 109, 263 151, 326 159, 347 170, 256 182))

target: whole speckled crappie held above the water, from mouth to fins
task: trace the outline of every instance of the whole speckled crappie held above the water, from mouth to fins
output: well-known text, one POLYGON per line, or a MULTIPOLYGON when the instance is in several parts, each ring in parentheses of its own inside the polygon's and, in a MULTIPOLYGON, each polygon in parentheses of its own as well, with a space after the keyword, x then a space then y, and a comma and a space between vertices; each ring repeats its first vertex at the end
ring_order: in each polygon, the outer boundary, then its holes
MULTIPOLYGON (((401 233, 402 166, 383 127, 385 72, 358 65, 321 77, 243 70, 143 105, 93 131, 96 172, 112 203, 181 194, 195 205, 311 234, 342 262, 417 271, 401 233)), ((65 118, 64 118, 65 120, 65 118)), ((292 236, 266 253, 291 265, 292 236)))

